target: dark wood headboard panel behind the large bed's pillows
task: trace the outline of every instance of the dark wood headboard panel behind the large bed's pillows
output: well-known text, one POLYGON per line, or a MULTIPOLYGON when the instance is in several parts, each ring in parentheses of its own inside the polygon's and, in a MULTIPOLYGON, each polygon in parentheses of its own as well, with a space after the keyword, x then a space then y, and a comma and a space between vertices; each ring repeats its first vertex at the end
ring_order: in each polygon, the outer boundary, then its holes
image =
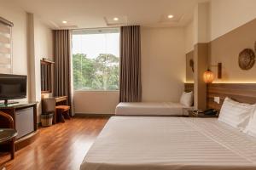
POLYGON ((207 85, 207 108, 220 110, 225 97, 241 103, 256 103, 256 83, 212 83, 207 85), (220 104, 214 102, 220 98, 220 104))

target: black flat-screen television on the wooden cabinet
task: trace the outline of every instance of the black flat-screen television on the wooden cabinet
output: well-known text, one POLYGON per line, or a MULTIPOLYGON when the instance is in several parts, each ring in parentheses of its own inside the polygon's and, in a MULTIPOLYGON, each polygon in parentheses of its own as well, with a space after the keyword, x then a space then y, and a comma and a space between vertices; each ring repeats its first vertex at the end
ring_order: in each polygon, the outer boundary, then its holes
POLYGON ((8 105, 9 99, 23 98, 26 98, 26 76, 0 74, 0 100, 8 105))

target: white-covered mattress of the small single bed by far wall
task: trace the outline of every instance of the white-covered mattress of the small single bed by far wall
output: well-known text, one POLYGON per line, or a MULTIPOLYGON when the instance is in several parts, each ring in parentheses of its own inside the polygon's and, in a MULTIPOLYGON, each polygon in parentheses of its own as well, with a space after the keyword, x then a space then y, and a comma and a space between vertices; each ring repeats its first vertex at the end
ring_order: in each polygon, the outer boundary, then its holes
POLYGON ((119 103, 116 106, 117 116, 183 116, 188 115, 186 107, 173 102, 137 102, 119 103))

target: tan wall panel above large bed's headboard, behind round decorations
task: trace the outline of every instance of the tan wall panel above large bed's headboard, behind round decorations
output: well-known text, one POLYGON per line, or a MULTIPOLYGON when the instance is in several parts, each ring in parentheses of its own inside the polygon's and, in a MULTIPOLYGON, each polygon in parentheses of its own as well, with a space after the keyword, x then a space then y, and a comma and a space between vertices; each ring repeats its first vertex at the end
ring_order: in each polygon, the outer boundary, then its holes
MULTIPOLYGON (((252 48, 256 42, 256 20, 236 28, 211 42, 210 63, 223 65, 222 79, 215 82, 256 82, 256 65, 243 71, 238 65, 238 55, 244 48, 252 48)), ((216 68, 212 68, 215 71, 216 68)))

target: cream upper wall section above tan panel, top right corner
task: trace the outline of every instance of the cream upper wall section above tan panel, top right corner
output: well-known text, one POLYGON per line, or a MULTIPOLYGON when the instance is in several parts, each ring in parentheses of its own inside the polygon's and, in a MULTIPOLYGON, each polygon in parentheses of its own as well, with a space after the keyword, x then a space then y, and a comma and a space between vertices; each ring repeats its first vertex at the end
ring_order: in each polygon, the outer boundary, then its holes
POLYGON ((256 18, 255 0, 212 0, 211 40, 256 18))

